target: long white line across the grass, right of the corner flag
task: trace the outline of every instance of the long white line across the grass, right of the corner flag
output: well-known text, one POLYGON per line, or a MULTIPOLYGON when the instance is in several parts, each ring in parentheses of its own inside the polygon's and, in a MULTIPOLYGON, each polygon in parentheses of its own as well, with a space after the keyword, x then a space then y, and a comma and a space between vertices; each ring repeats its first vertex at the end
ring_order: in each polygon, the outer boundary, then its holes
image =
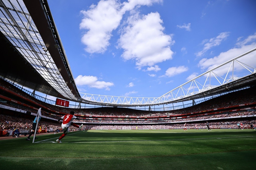
MULTIPOLYGON (((240 137, 255 137, 255 136, 232 136, 232 137, 221 137, 221 138, 240 138, 240 137)), ((123 141, 68 142, 68 143, 146 142, 146 141, 195 140, 195 139, 219 139, 219 138, 220 137, 215 137, 215 138, 189 138, 189 139, 161 139, 161 140, 159 139, 159 140, 123 140, 123 141)))

